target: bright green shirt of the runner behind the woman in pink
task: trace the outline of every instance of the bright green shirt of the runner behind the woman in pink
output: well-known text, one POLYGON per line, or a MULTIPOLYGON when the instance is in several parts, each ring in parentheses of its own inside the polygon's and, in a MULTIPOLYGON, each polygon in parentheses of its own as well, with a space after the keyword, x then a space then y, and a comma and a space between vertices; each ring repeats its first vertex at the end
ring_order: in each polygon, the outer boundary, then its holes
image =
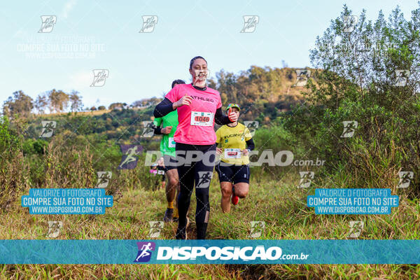
POLYGON ((169 134, 162 134, 162 141, 160 141, 160 152, 163 155, 171 155, 172 157, 175 157, 174 134, 176 132, 176 127, 178 126, 177 111, 172 111, 163 118, 155 118, 153 125, 156 125, 157 127, 162 126, 162 128, 172 126, 172 130, 169 134))

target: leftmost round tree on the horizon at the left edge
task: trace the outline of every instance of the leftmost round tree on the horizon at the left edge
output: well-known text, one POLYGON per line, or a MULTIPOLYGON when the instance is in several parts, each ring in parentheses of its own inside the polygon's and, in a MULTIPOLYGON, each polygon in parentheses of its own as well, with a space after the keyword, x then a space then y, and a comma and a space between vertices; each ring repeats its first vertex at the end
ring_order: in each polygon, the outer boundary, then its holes
POLYGON ((13 97, 8 97, 3 104, 3 114, 13 118, 15 114, 28 117, 34 108, 34 99, 19 90, 13 92, 13 97))

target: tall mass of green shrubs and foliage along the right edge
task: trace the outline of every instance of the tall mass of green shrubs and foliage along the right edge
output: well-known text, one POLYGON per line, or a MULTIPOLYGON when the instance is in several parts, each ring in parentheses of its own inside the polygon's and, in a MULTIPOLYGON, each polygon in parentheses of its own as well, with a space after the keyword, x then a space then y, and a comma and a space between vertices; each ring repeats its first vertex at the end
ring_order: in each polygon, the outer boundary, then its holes
POLYGON ((348 15, 344 6, 316 39, 316 84, 309 80, 305 102, 283 116, 284 127, 312 158, 327 158, 330 172, 349 174, 347 186, 393 188, 404 170, 417 174, 411 186, 420 190, 420 9, 410 21, 396 8, 388 22, 379 13, 374 23, 363 10, 354 30, 344 32, 348 15), (397 86, 400 69, 409 75, 397 86), (346 120, 358 122, 354 137, 340 137, 346 120))

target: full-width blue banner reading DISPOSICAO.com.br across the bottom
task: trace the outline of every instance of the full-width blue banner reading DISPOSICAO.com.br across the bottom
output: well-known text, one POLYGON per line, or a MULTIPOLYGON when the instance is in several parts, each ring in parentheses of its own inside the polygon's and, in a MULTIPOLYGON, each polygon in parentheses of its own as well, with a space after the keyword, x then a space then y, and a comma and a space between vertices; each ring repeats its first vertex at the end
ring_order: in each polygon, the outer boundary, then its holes
POLYGON ((420 240, 0 240, 1 264, 417 264, 420 240))

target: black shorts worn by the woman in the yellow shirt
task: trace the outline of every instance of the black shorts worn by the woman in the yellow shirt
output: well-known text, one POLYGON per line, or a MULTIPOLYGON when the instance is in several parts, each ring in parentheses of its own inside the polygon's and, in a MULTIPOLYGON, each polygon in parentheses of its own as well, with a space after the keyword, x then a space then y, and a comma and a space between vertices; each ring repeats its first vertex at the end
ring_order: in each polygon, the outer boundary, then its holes
POLYGON ((216 172, 221 182, 249 183, 248 165, 229 165, 225 162, 219 162, 216 165, 216 172))

